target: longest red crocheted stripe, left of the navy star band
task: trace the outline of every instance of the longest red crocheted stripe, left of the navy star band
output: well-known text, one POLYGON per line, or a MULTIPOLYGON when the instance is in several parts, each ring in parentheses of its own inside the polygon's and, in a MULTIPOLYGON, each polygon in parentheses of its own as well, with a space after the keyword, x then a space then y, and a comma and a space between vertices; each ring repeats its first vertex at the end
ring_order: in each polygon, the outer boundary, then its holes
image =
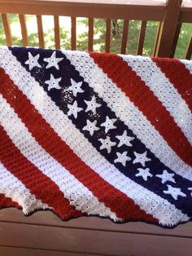
POLYGON ((89 188, 94 196, 98 197, 98 201, 103 202, 112 212, 116 213, 118 218, 123 220, 145 219, 151 222, 158 222, 151 214, 146 214, 141 210, 134 201, 120 192, 118 189, 111 186, 102 179, 98 174, 86 166, 83 161, 68 147, 66 143, 55 133, 41 114, 37 112, 33 104, 26 98, 22 91, 5 75, 4 71, 0 69, 0 93, 15 108, 15 113, 28 127, 37 142, 49 152, 56 161, 64 166, 73 174, 76 179, 89 188), (1 83, 0 83, 1 84, 1 83), (56 145, 56 146, 55 146, 56 145))

